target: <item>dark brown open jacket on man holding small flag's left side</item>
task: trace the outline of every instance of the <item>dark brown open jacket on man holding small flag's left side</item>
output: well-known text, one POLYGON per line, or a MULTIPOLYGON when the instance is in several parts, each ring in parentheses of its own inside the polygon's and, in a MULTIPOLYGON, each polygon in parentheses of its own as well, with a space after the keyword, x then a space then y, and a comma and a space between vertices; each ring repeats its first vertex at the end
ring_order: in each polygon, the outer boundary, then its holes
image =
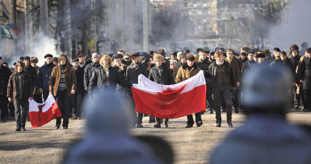
POLYGON ((7 84, 7 97, 13 99, 13 103, 16 103, 16 100, 19 99, 19 95, 22 94, 21 103, 27 103, 29 97, 32 97, 32 82, 31 77, 24 71, 24 75, 22 75, 23 80, 21 78, 21 81, 23 81, 23 84, 21 85, 21 88, 18 89, 18 74, 16 72, 12 73, 11 76, 8 79, 7 84), (20 93, 22 92, 22 93, 20 93), (17 96, 17 97, 16 97, 17 96))

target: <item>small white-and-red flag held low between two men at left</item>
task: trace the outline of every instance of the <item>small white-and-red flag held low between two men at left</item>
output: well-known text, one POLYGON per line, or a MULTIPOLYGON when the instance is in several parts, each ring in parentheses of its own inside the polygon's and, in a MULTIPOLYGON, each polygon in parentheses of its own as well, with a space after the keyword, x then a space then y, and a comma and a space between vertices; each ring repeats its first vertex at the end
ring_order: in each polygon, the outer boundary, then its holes
POLYGON ((61 112, 52 94, 49 94, 46 101, 42 104, 29 101, 29 119, 32 128, 41 127, 49 123, 54 118, 60 117, 61 112))

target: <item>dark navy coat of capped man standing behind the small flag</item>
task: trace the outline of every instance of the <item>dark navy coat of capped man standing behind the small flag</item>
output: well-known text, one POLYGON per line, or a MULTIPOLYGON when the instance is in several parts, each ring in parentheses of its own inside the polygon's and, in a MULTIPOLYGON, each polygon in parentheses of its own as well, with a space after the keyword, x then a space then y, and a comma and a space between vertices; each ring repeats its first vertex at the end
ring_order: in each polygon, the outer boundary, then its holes
POLYGON ((55 66, 56 65, 53 62, 51 62, 50 64, 46 64, 46 62, 44 62, 44 65, 40 67, 38 76, 39 88, 42 88, 43 90, 49 90, 50 77, 52 70, 55 66))

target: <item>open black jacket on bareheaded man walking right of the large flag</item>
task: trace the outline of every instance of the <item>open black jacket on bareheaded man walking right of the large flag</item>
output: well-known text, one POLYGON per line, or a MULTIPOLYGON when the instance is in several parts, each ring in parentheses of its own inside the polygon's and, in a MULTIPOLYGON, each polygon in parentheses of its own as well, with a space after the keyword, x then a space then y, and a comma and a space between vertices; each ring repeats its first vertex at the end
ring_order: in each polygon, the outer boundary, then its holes
MULTIPOLYGON (((225 83, 229 83, 231 85, 229 87, 234 88, 235 87, 235 79, 234 79, 233 69, 232 69, 231 65, 228 62, 224 61, 223 64, 224 64, 223 76, 224 76, 225 83)), ((211 77, 212 87, 215 86, 216 68, 217 68, 216 61, 214 61, 208 67, 208 73, 210 74, 210 77, 211 77)))

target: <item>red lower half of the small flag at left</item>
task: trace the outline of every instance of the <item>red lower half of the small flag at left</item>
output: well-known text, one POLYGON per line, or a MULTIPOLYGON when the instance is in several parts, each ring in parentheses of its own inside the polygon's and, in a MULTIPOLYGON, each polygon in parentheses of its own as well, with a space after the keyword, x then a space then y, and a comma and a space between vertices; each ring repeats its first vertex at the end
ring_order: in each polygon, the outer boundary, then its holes
POLYGON ((33 128, 41 127, 60 116, 61 112, 56 102, 46 112, 29 112, 29 119, 33 128))

